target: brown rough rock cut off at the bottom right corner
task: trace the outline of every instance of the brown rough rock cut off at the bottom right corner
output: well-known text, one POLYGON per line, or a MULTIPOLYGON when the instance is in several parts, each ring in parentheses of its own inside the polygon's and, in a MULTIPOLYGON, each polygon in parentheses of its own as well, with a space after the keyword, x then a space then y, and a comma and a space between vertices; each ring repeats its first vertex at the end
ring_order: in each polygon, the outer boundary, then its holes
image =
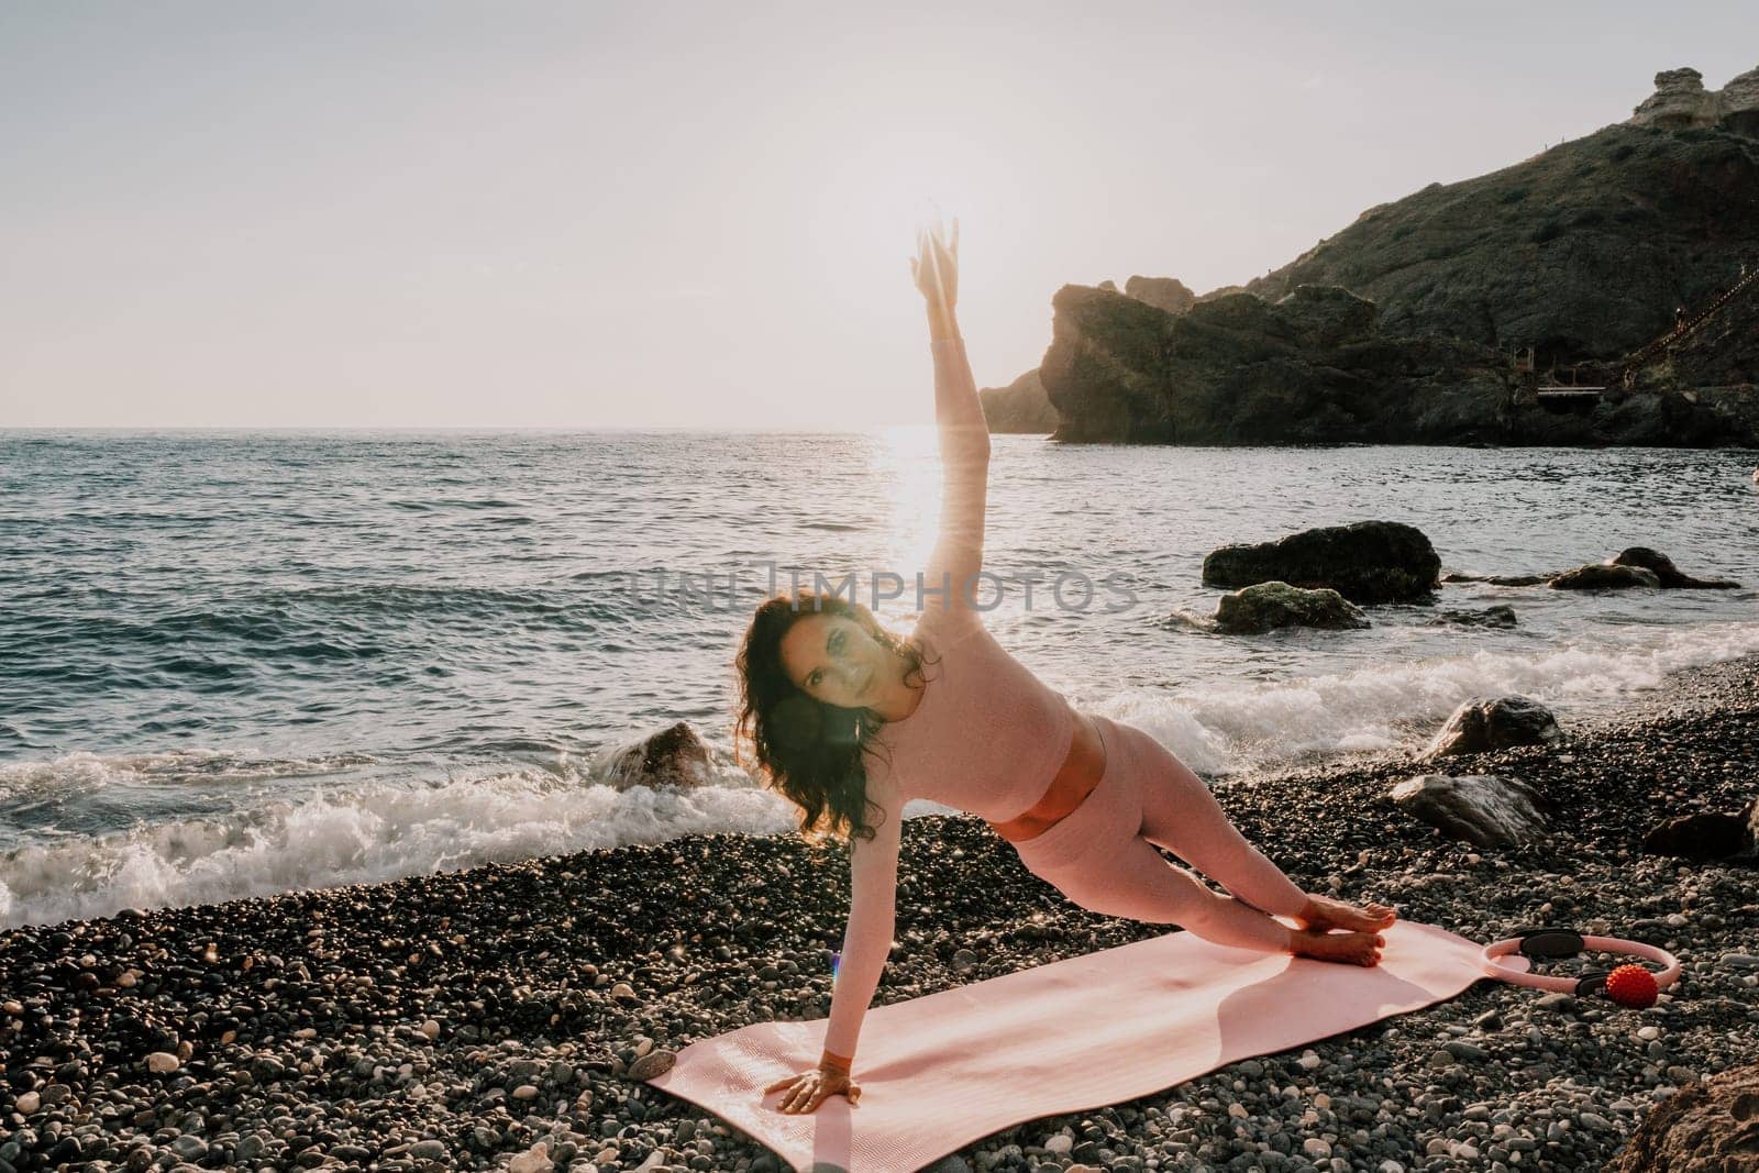
POLYGON ((1606 1173, 1759 1169, 1759 1066, 1687 1083, 1643 1117, 1606 1173))

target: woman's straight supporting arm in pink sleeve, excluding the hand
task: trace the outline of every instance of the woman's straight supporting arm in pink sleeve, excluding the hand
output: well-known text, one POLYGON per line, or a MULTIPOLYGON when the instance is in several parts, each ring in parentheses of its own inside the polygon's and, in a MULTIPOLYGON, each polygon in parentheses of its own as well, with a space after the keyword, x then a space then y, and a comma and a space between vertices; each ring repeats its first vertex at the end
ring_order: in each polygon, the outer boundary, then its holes
POLYGON ((872 839, 850 839, 850 922, 843 932, 843 960, 830 994, 830 1022, 820 1059, 820 1067, 843 1073, 850 1071, 855 1059, 862 1018, 880 988, 880 973, 897 930, 897 855, 904 839, 904 800, 883 765, 869 767, 867 797, 881 807, 881 814, 872 839))

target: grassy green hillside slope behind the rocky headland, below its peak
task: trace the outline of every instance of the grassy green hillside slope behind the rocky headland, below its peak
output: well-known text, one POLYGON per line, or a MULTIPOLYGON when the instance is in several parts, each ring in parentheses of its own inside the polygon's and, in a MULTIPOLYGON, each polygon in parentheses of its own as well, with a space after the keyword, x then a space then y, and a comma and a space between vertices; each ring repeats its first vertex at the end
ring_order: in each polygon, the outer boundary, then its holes
POLYGON ((1617 125, 1372 208, 1247 290, 1342 285, 1395 334, 1573 362, 1636 350, 1743 262, 1759 262, 1759 139, 1617 125))

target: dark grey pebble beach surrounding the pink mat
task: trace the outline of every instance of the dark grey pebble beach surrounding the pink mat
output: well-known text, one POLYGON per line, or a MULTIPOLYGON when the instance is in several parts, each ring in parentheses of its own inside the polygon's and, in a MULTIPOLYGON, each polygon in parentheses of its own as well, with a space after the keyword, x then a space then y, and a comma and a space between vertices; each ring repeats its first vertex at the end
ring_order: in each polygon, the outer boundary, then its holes
MULTIPOLYGON (((1305 888, 1478 941, 1573 923, 1662 944, 1685 976, 1657 1006, 1481 981, 931 1168, 1602 1168, 1657 1103, 1752 1060, 1754 869, 1639 842, 1754 797, 1755 718, 1759 658, 1743 658, 1675 674, 1560 744, 1449 760, 1557 805, 1553 834, 1518 849, 1398 812, 1388 788, 1432 772, 1407 754, 1217 788, 1305 888)), ((770 1173, 774 1154, 640 1080, 698 1038, 823 1016, 846 909, 837 849, 709 834, 12 929, 0 1173, 770 1173)), ((969 816, 906 823, 897 925, 876 1004, 1166 932, 1068 904, 969 816)))

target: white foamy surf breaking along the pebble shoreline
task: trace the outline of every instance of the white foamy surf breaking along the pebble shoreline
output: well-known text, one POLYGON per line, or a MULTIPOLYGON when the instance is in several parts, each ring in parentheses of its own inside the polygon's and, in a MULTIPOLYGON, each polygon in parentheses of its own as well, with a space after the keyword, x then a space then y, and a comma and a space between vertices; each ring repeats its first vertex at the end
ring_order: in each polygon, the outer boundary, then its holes
MULTIPOLYGON (((1418 746, 1460 702, 1525 693, 1566 716, 1666 674, 1759 652, 1759 623, 1685 630, 1629 628, 1530 652, 1391 663, 1258 686, 1140 691, 1094 710, 1157 737, 1207 776, 1302 758, 1418 746)), ((69 754, 0 769, 0 795, 116 779, 288 777, 355 760, 306 760, 269 774, 269 760, 208 751, 100 758, 69 754)), ((332 770, 339 772, 339 770, 332 770)), ((591 772, 524 769, 438 784, 334 777, 250 811, 142 823, 100 837, 56 834, 0 853, 0 927, 107 916, 123 907, 206 904, 301 888, 376 883, 487 862, 514 862, 684 834, 785 834, 795 809, 734 769, 698 788, 598 784, 591 772)), ((297 786, 297 783, 296 783, 297 786)), ((906 812, 941 812, 913 802, 906 812)))

